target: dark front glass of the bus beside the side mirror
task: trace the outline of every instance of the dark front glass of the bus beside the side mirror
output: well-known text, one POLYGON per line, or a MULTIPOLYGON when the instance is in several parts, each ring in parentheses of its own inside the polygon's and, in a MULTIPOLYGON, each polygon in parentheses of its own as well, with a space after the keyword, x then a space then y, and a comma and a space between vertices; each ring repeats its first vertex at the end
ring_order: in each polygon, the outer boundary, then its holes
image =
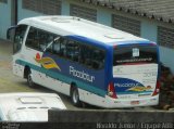
POLYGON ((14 43, 13 43, 13 53, 16 53, 21 50, 24 36, 26 33, 27 25, 18 25, 15 29, 14 43))

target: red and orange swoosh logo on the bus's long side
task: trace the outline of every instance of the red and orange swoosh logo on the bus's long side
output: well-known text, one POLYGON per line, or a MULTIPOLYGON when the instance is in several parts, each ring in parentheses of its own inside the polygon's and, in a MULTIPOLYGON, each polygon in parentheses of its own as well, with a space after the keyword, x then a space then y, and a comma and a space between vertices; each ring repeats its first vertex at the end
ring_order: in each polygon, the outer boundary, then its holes
POLYGON ((41 66, 45 67, 46 69, 57 68, 61 70, 59 65, 51 57, 40 57, 40 54, 37 53, 35 61, 41 64, 41 66))

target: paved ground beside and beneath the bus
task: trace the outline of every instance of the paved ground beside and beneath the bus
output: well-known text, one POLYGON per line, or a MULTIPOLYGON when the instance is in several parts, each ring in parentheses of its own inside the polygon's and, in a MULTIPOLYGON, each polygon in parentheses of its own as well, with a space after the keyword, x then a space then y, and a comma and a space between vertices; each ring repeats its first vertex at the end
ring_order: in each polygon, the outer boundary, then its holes
MULTIPOLYGON (((33 89, 27 86, 26 79, 17 77, 12 73, 12 42, 0 39, 0 93, 9 92, 48 92, 60 95, 69 109, 100 109, 99 107, 84 104, 83 108, 72 105, 69 96, 38 86, 33 89)), ((133 111, 156 111, 153 107, 135 107, 133 111)))

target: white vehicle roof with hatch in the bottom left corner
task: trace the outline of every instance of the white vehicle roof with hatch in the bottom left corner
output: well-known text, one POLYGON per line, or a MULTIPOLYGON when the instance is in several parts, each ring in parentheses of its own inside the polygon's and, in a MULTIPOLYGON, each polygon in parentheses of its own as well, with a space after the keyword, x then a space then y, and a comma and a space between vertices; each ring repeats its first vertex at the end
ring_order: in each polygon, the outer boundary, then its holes
POLYGON ((66 109, 55 93, 0 93, 0 120, 48 121, 48 109, 66 109))

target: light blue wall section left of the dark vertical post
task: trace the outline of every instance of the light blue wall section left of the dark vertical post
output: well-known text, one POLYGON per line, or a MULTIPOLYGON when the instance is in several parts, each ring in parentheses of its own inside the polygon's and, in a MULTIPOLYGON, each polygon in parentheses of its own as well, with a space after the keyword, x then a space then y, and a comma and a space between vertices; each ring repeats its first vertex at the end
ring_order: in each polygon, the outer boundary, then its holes
POLYGON ((0 38, 5 39, 7 29, 11 26, 11 0, 0 2, 0 38))

